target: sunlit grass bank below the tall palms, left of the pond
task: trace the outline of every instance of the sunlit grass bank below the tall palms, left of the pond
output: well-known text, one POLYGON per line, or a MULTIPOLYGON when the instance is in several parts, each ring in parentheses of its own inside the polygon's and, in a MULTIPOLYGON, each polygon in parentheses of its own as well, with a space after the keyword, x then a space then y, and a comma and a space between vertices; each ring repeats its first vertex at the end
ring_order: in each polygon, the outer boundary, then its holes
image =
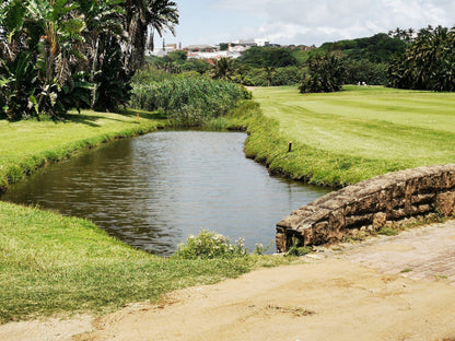
POLYGON ((138 110, 122 115, 70 113, 63 121, 0 120, 0 190, 45 164, 119 137, 150 132, 163 125, 165 121, 154 119, 154 114, 138 110))

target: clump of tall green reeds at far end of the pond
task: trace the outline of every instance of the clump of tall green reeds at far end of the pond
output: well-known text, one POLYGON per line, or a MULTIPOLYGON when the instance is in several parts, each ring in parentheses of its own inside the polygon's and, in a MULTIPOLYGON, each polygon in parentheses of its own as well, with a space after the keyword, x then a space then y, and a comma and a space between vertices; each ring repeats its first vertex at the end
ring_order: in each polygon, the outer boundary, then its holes
POLYGON ((250 98, 243 86, 205 78, 176 78, 153 84, 136 84, 131 105, 162 110, 177 126, 199 126, 225 115, 240 99, 250 98))

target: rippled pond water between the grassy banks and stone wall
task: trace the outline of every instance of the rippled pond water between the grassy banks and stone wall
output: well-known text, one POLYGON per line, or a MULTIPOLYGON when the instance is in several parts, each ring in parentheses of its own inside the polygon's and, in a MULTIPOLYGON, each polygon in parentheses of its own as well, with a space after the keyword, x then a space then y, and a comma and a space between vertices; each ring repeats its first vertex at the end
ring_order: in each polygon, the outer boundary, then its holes
POLYGON ((161 131, 118 140, 32 175, 1 200, 89 219, 156 255, 172 255, 202 228, 243 237, 253 250, 275 240, 278 221, 331 189, 270 176, 245 157, 245 139, 161 131))

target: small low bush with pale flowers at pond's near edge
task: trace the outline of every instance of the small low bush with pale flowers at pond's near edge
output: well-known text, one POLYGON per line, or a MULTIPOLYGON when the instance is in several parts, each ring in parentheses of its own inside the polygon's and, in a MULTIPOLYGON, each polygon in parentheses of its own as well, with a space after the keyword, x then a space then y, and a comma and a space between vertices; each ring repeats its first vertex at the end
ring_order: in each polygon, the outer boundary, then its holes
POLYGON ((197 236, 190 235, 186 244, 180 244, 174 257, 180 259, 213 259, 247 256, 243 239, 231 244, 228 237, 202 230, 197 236))

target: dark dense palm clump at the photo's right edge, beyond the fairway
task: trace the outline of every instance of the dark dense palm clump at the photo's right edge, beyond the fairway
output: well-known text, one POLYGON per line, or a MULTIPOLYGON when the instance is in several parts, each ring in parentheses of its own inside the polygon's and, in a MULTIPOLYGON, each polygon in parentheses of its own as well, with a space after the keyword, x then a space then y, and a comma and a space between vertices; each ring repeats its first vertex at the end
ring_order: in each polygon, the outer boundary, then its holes
POLYGON ((389 64, 389 85, 398 89, 455 91, 455 28, 419 31, 406 51, 389 64))

